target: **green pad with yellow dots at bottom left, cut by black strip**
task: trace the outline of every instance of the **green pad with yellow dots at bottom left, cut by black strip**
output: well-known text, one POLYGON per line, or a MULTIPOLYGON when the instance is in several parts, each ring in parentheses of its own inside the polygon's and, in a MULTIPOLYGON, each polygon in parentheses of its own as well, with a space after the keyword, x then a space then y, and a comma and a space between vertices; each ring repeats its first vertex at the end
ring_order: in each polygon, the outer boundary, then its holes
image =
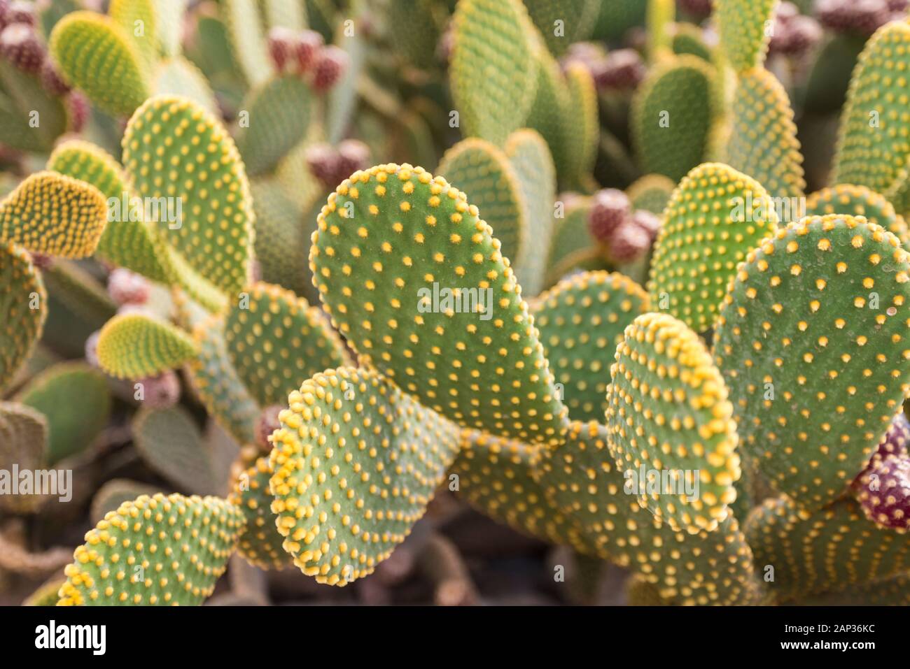
POLYGON ((243 514, 217 497, 142 495, 76 548, 57 605, 196 605, 215 590, 243 514))

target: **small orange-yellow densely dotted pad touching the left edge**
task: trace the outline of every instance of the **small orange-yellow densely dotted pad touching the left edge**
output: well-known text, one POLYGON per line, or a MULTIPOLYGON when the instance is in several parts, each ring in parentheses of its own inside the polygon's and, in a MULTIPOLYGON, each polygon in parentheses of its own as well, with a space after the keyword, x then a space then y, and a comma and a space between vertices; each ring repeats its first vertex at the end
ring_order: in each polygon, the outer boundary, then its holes
POLYGON ((0 201, 0 242, 33 253, 84 258, 95 253, 107 224, 107 203, 95 186, 38 172, 0 201))

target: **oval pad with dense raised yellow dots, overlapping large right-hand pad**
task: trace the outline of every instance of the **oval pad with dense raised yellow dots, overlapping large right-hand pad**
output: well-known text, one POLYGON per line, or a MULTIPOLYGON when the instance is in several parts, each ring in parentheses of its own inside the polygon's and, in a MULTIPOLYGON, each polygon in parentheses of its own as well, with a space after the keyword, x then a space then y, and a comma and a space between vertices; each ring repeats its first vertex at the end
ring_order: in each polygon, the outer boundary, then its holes
POLYGON ((674 530, 716 529, 742 472, 733 405, 698 335, 671 315, 641 315, 610 377, 610 451, 628 489, 674 530))

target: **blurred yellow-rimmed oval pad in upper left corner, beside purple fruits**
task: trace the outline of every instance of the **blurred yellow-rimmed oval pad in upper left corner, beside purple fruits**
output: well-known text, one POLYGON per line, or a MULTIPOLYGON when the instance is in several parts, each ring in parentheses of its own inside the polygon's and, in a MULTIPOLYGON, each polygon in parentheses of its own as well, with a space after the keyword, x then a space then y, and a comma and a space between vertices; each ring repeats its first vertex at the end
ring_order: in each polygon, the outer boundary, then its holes
POLYGON ((66 80, 109 114, 132 114, 151 91, 143 56, 105 15, 64 16, 51 33, 50 52, 66 80))

